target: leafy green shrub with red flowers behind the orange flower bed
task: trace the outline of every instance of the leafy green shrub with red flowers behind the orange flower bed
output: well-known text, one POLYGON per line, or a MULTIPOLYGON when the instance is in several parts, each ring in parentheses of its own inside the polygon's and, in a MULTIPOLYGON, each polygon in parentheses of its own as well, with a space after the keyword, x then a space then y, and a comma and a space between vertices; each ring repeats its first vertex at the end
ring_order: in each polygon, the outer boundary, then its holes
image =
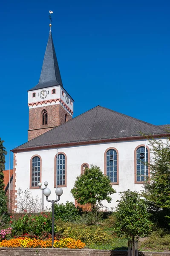
POLYGON ((40 215, 23 215, 18 220, 12 219, 12 234, 19 232, 21 234, 32 233, 40 236, 44 231, 52 233, 52 218, 50 213, 47 215, 43 212, 40 215))

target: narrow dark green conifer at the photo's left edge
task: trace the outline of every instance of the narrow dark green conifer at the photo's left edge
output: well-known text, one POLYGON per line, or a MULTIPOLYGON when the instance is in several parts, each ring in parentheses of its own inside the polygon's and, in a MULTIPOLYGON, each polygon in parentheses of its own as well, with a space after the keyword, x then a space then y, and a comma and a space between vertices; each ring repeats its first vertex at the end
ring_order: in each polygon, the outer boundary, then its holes
POLYGON ((5 170, 5 155, 7 154, 6 148, 3 146, 3 140, 0 138, 0 216, 3 217, 3 220, 8 219, 8 209, 7 209, 7 197, 4 192, 4 175, 3 170, 5 170))

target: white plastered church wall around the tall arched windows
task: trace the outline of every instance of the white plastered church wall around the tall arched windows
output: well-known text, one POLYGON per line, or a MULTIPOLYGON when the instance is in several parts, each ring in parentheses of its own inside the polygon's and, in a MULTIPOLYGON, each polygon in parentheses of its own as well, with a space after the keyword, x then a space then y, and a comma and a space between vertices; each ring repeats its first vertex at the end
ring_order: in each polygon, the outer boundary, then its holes
MULTIPOLYGON (((91 164, 100 166, 104 173, 104 152, 110 147, 114 147, 118 150, 119 184, 113 185, 117 193, 112 195, 112 203, 109 204, 104 201, 103 205, 109 208, 115 207, 120 191, 125 191, 127 189, 140 191, 142 184, 135 184, 134 180, 134 151, 135 148, 141 144, 144 144, 144 140, 58 148, 58 152, 64 152, 67 157, 67 181, 66 187, 63 187, 63 195, 61 196, 60 203, 65 204, 66 201, 75 202, 70 190, 74 186, 76 177, 81 174, 82 163, 88 163, 89 166, 91 164)), ((25 190, 29 188, 30 159, 33 155, 37 154, 40 155, 42 159, 41 182, 43 184, 44 181, 48 181, 48 187, 52 191, 49 199, 55 199, 54 164, 56 152, 56 149, 49 149, 17 153, 16 189, 18 190, 20 188, 25 190)), ((42 191, 40 189, 30 190, 33 196, 38 195, 39 198, 42 197, 42 191)), ((44 199, 44 205, 51 207, 51 204, 46 201, 46 198, 44 199)))

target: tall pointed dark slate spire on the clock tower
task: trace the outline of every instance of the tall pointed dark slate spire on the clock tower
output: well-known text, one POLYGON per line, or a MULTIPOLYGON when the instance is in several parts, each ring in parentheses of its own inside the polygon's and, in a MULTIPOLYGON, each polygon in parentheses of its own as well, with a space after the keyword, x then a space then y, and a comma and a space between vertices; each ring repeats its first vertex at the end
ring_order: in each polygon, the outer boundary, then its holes
POLYGON ((39 83, 29 91, 52 87, 56 85, 63 86, 63 83, 61 80, 57 57, 55 54, 55 48, 52 40, 52 32, 50 31, 39 83))

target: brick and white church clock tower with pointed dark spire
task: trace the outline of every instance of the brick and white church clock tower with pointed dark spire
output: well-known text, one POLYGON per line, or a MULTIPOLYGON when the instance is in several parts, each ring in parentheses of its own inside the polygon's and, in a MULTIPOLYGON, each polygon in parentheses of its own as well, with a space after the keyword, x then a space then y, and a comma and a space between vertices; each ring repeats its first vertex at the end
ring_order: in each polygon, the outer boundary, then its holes
POLYGON ((50 27, 39 83, 28 91, 28 140, 72 119, 73 103, 63 88, 50 27))

